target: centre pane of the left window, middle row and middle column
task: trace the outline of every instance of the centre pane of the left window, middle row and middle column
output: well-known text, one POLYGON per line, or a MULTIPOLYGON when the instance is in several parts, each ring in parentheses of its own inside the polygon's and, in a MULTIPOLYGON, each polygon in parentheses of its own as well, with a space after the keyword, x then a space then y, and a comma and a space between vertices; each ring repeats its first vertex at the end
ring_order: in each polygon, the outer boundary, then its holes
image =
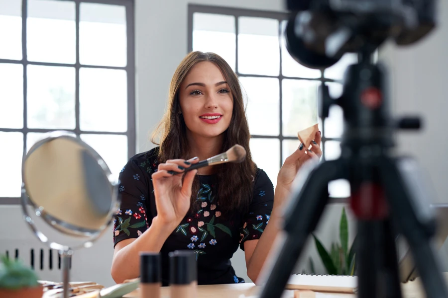
POLYGON ((75 128, 75 68, 28 65, 29 128, 75 128))

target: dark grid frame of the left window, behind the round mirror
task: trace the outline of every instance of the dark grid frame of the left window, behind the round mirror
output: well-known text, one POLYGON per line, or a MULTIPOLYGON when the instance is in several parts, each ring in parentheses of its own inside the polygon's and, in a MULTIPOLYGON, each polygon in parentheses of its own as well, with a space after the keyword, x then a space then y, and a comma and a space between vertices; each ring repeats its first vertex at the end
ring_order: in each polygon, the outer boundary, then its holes
MULTIPOLYGON (((76 62, 75 64, 64 63, 48 63, 48 62, 34 62, 27 60, 26 47, 26 21, 28 18, 28 1, 22 0, 21 18, 22 18, 22 59, 10 60, 0 59, 0 64, 21 64, 23 66, 23 128, 1 128, 0 132, 20 132, 23 134, 23 152, 26 152, 26 135, 28 133, 47 133, 57 131, 58 129, 31 129, 27 127, 27 66, 59 66, 59 67, 74 67, 75 68, 75 129, 63 129, 65 131, 73 132, 78 137, 80 134, 89 135, 124 135, 127 137, 127 158, 133 156, 136 151, 136 124, 135 124, 135 26, 134 26, 134 0, 59 0, 70 1, 75 3, 75 27, 76 27, 76 62), (112 4, 125 7, 126 15, 126 56, 127 63, 124 67, 112 66, 96 66, 96 65, 82 65, 79 62, 79 23, 80 23, 80 4, 84 3, 99 3, 112 4), (80 68, 96 68, 96 69, 112 69, 124 70, 127 76, 127 131, 126 132, 108 132, 108 131, 82 131, 80 129, 80 101, 79 101, 79 70, 80 68)), ((17 205, 20 204, 20 197, 0 197, 0 205, 17 205)))

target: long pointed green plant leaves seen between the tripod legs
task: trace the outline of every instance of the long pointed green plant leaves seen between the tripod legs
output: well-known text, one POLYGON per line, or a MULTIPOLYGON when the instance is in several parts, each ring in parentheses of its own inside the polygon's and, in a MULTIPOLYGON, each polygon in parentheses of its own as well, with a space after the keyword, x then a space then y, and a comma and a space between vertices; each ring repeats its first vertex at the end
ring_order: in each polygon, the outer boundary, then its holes
MULTIPOLYGON (((334 275, 354 275, 355 273, 355 251, 356 237, 351 247, 348 247, 348 222, 345 215, 345 208, 342 208, 342 214, 339 221, 339 241, 332 243, 331 251, 328 252, 322 242, 313 234, 316 248, 322 263, 328 274, 334 275)), ((313 260, 310 258, 310 268, 314 272, 313 260)))

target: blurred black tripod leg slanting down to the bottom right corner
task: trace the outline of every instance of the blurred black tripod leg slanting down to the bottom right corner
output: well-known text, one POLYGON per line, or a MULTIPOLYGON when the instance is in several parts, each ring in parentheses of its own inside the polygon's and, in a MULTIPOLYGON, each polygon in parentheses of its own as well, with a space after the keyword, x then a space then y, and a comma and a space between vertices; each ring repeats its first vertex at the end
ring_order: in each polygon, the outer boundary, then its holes
POLYGON ((434 231, 430 207, 424 203, 425 197, 417 196, 421 193, 415 189, 419 185, 411 183, 412 175, 418 174, 416 168, 411 163, 406 165, 399 167, 394 160, 386 157, 379 160, 378 166, 392 218, 409 243, 427 297, 448 297, 447 286, 430 242, 434 231))

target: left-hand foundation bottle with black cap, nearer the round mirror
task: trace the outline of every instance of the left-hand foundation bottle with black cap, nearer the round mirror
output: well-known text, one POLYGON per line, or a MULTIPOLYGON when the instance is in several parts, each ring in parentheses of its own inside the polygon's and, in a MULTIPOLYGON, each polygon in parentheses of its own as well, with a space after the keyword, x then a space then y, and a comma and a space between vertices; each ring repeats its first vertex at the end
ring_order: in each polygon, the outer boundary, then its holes
POLYGON ((160 298, 162 267, 160 254, 140 253, 140 297, 160 298))

